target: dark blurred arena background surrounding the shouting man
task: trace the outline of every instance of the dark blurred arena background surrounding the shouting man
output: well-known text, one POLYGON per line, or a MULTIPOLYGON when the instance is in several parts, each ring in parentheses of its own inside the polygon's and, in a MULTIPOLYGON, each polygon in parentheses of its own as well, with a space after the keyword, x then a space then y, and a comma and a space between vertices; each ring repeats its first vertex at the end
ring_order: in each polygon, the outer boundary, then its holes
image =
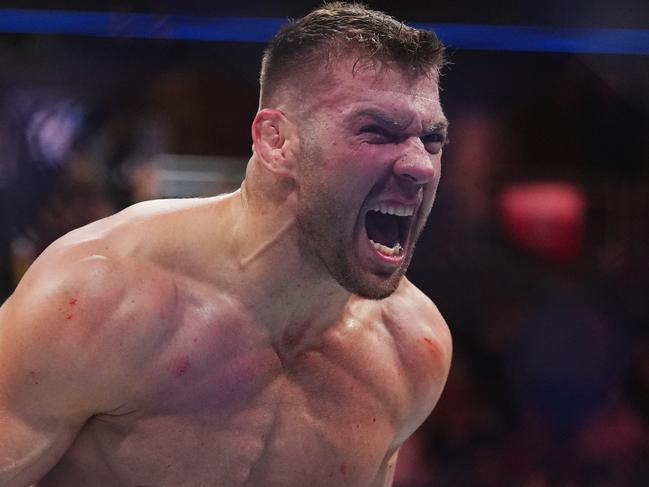
MULTIPOLYGON (((649 485, 649 2, 366 3, 452 61, 409 277, 454 360, 395 485, 649 485)), ((317 5, 0 2, 0 300, 75 227, 236 188, 263 40, 317 5)))

